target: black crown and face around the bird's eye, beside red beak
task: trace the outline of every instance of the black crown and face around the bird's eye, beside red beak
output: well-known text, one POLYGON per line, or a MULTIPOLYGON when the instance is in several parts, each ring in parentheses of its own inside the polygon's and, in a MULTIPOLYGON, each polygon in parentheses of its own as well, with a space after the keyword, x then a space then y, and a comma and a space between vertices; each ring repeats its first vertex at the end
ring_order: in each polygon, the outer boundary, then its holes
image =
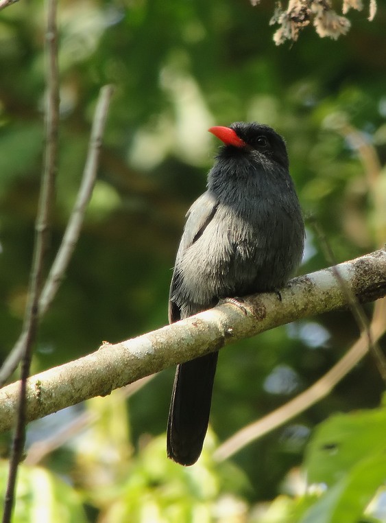
POLYGON ((230 125, 237 136, 241 138, 250 148, 264 154, 286 169, 289 166, 287 148, 285 141, 271 127, 252 122, 245 124, 243 121, 235 121, 230 125))

